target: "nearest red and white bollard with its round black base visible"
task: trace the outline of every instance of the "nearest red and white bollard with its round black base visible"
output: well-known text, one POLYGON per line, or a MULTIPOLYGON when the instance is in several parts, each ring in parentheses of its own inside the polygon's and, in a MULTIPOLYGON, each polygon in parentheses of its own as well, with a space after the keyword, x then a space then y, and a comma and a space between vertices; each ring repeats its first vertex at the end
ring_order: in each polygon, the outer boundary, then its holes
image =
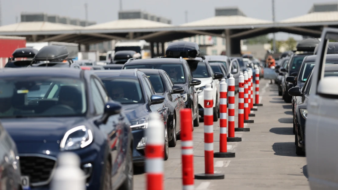
POLYGON ((204 164, 205 173, 195 174, 198 180, 224 179, 224 174, 214 173, 214 116, 211 84, 204 89, 204 164))

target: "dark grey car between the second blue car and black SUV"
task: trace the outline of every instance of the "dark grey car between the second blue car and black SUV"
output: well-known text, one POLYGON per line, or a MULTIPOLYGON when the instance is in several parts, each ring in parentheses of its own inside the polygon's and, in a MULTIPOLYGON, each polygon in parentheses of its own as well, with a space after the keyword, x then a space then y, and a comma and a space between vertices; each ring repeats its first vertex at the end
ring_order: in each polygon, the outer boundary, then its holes
POLYGON ((147 75, 155 92, 165 98, 164 105, 168 108, 168 138, 169 146, 175 147, 177 135, 180 134, 180 110, 186 108, 183 97, 180 93, 184 92, 182 86, 175 86, 169 75, 158 69, 140 69, 147 75))

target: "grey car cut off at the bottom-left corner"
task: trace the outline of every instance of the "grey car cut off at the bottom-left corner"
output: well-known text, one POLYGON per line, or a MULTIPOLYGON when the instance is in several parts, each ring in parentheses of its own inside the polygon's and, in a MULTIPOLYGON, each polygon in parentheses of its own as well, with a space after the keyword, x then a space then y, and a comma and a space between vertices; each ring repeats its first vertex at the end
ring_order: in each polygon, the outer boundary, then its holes
MULTIPOLYGON (((2 92, 0 90, 0 92, 2 92)), ((1 99, 0 93, 0 99, 1 99)), ((0 102, 1 104, 2 102, 0 102)), ((1 108, 0 108, 0 111, 1 108)), ((1 112, 0 112, 1 113, 1 112)), ((20 160, 17 146, 13 139, 0 123, 0 189, 3 190, 18 190, 21 189, 21 184, 25 185, 25 181, 21 183, 20 177, 20 160), (5 187, 5 188, 3 188, 5 187)))

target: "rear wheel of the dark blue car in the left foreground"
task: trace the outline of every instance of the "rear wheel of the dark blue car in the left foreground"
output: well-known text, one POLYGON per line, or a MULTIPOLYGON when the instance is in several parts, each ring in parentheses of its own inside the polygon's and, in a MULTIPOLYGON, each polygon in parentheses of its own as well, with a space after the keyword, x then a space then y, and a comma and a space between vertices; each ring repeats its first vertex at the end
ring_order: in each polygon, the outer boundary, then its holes
POLYGON ((126 155, 126 179, 119 188, 119 190, 133 190, 134 189, 134 167, 132 164, 132 148, 130 147, 126 155))

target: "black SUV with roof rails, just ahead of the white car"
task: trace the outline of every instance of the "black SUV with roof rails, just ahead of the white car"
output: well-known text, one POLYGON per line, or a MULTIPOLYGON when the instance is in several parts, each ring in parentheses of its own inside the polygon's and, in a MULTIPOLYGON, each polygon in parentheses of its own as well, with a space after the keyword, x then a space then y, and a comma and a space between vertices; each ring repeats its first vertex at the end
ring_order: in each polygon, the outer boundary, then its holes
POLYGON ((195 86, 201 81, 193 79, 188 62, 180 58, 151 58, 131 59, 127 61, 122 69, 162 69, 169 74, 175 85, 182 86, 182 93, 186 108, 192 109, 194 127, 199 126, 198 95, 195 86))

